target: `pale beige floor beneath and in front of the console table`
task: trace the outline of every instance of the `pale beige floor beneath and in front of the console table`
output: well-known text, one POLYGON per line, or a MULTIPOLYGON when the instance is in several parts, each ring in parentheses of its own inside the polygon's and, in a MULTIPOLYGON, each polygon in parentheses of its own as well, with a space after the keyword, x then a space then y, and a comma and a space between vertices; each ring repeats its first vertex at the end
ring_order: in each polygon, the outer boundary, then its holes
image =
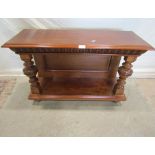
POLYGON ((155 136, 155 79, 128 79, 127 101, 27 100, 28 79, 18 77, 0 109, 0 136, 155 136))

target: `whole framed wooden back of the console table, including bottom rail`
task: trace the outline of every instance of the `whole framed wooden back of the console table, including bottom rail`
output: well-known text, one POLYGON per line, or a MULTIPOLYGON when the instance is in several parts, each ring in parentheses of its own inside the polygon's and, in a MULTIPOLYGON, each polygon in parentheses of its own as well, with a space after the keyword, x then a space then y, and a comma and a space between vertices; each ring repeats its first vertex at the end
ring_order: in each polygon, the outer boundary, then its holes
POLYGON ((110 55, 91 53, 36 53, 34 59, 40 77, 67 78, 109 78, 115 60, 110 55))

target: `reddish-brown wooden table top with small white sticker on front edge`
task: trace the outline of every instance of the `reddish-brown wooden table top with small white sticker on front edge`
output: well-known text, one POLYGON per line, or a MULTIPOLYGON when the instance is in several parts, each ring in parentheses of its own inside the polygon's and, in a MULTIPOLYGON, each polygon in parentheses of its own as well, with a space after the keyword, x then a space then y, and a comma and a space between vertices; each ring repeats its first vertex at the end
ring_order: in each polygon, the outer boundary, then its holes
POLYGON ((91 48, 152 50, 132 31, 104 29, 24 29, 2 47, 7 48, 91 48))

